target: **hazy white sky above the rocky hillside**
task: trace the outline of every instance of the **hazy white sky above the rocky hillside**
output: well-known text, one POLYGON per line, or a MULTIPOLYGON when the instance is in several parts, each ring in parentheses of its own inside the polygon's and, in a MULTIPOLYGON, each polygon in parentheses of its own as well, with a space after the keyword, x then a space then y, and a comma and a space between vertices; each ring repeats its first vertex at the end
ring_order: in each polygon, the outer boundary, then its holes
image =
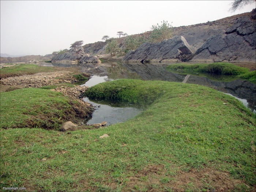
POLYGON ((0 1, 1 53, 50 54, 70 44, 150 31, 162 20, 187 26, 250 12, 255 1, 230 13, 232 1, 0 1))

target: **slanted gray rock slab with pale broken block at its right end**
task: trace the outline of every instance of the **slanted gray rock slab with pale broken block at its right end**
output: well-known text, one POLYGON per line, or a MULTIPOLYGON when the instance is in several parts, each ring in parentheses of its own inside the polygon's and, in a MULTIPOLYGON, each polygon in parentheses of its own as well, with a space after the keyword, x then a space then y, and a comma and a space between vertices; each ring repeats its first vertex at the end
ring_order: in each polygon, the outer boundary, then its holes
POLYGON ((183 61, 184 56, 191 53, 186 39, 176 36, 156 44, 143 43, 135 51, 129 52, 122 61, 142 63, 183 61))

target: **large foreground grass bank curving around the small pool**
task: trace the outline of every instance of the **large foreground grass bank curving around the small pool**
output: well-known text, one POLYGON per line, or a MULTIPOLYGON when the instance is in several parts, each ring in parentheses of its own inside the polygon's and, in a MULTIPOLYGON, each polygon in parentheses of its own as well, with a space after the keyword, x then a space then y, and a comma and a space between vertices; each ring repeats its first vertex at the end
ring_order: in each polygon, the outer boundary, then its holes
POLYGON ((101 83, 87 95, 146 109, 94 130, 2 129, 1 189, 255 190, 255 114, 235 98, 194 84, 141 80, 101 83), (103 134, 110 137, 99 139, 103 134))

